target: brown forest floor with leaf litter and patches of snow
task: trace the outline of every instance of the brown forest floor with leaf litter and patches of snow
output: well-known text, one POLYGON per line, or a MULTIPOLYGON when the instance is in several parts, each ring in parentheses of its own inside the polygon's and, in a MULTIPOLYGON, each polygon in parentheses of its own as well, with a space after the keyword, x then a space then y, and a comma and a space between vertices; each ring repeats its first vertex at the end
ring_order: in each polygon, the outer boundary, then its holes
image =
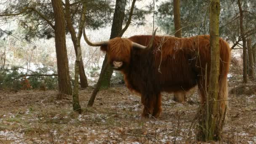
MULTIPOLYGON (((72 97, 57 91, 0 92, 0 143, 3 144, 189 144, 195 143, 200 101, 197 92, 184 103, 163 93, 163 113, 141 120, 139 96, 125 86, 99 91, 86 108, 93 88, 80 90, 81 115, 72 97), (190 129, 191 127, 191 129, 190 129)), ((220 143, 256 143, 256 95, 229 94, 229 113, 220 143)))

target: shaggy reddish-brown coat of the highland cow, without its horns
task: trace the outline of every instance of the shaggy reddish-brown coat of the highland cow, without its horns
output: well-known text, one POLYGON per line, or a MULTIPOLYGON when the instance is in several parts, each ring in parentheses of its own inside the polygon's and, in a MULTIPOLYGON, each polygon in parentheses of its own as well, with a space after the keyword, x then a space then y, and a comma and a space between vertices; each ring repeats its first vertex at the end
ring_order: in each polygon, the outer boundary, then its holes
MULTIPOLYGON (((144 105, 142 116, 160 116, 161 92, 188 91, 198 86, 202 104, 205 101, 205 65, 208 64, 209 80, 211 48, 209 35, 196 37, 155 36, 152 48, 133 48, 131 42, 148 45, 151 35, 137 35, 109 40, 106 51, 108 61, 123 61, 120 70, 125 76, 127 87, 141 95, 144 105)), ((220 75, 219 97, 227 100, 227 73, 229 71, 230 48, 226 41, 219 39, 220 75)), ((208 83, 206 84, 208 87, 208 83)), ((226 101, 221 102, 224 108, 226 101)))

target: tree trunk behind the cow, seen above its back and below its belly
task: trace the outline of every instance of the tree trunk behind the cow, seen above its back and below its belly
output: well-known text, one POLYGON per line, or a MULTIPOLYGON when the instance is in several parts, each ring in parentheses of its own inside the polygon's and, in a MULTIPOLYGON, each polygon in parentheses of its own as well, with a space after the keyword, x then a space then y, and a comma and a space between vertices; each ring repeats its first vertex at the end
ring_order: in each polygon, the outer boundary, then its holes
MULTIPOLYGON (((180 0, 173 0, 173 17, 175 37, 181 37, 181 13, 180 13, 180 0)), ((186 92, 180 91, 174 93, 174 101, 183 102, 186 99, 186 92)))

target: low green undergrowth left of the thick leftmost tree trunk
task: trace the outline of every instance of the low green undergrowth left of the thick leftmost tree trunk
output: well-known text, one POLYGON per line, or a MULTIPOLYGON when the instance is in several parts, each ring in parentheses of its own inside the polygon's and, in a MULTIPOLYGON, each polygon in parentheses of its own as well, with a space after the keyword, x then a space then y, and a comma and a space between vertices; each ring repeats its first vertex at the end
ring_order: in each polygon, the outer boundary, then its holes
POLYGON ((0 69, 0 90, 29 90, 29 89, 56 89, 58 79, 56 76, 46 75, 51 69, 40 68, 36 72, 27 70, 22 72, 21 67, 0 69))

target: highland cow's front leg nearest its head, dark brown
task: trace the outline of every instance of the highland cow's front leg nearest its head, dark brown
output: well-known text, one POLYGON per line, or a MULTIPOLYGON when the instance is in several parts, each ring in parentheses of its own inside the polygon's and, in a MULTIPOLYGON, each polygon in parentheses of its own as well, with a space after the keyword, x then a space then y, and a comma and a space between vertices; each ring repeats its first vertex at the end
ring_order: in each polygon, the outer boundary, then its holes
POLYGON ((141 96, 141 102, 144 106, 141 117, 148 117, 149 115, 152 115, 155 100, 156 100, 156 96, 150 96, 150 97, 141 96))

